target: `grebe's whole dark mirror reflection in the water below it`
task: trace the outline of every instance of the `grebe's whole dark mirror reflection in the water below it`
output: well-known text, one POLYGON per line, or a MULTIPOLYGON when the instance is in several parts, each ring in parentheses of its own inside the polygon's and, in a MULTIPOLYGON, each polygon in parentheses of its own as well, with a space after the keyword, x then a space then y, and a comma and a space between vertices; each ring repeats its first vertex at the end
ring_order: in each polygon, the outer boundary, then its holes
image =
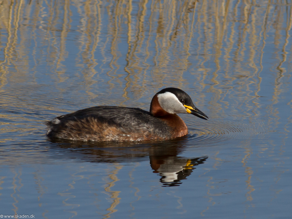
POLYGON ((195 166, 208 158, 180 157, 184 141, 158 142, 52 142, 55 156, 94 163, 141 162, 150 159, 153 173, 158 173, 164 187, 179 186, 195 166))

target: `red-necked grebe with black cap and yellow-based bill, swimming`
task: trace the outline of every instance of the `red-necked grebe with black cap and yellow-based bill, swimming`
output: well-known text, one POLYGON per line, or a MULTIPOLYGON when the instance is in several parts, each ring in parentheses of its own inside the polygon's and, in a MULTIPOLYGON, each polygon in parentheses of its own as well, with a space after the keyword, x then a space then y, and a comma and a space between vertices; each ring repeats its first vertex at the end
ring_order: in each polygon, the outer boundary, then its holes
POLYGON ((152 98, 150 112, 129 107, 90 107, 46 122, 46 135, 83 141, 168 140, 188 134, 177 113, 208 119, 187 93, 178 88, 164 88, 152 98))

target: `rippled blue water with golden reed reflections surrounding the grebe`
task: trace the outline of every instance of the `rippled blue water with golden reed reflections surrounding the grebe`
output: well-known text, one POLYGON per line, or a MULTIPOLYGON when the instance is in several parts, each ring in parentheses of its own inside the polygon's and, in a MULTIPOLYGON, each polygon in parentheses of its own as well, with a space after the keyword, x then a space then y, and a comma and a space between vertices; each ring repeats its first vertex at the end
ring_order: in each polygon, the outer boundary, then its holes
POLYGON ((0 214, 288 218, 291 21, 290 0, 0 0, 0 214), (189 135, 169 142, 44 135, 165 87, 210 120, 181 115, 189 135))

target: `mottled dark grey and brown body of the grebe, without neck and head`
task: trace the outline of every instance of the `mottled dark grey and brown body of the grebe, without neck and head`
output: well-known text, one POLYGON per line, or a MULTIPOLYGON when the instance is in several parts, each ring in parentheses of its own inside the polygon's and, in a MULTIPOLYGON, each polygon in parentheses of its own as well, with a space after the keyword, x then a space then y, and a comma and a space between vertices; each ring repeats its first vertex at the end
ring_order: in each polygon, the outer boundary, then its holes
POLYGON ((173 138, 171 133, 175 131, 167 119, 153 117, 139 108, 114 106, 81 109, 56 117, 47 126, 49 138, 84 141, 166 140, 173 138))

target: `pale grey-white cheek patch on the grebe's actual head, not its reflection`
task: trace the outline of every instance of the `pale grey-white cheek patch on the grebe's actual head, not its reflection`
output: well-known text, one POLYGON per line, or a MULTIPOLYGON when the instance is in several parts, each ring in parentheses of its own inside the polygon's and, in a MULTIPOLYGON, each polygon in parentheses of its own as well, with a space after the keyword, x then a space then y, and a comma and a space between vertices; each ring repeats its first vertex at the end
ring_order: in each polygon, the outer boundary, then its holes
POLYGON ((157 95, 158 102, 162 109, 171 114, 187 113, 187 110, 178 98, 170 92, 160 93, 157 95))

